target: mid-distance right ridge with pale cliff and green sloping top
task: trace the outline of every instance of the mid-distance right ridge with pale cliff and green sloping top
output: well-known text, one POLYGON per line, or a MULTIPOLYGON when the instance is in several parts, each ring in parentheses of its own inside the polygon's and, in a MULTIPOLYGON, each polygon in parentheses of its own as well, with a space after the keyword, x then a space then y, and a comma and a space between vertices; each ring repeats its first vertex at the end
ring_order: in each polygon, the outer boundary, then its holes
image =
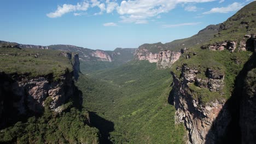
POLYGON ((160 69, 170 68, 179 59, 184 50, 191 46, 205 43, 218 34, 219 26, 207 26, 190 38, 174 40, 171 43, 143 44, 136 50, 135 59, 156 63, 160 69))

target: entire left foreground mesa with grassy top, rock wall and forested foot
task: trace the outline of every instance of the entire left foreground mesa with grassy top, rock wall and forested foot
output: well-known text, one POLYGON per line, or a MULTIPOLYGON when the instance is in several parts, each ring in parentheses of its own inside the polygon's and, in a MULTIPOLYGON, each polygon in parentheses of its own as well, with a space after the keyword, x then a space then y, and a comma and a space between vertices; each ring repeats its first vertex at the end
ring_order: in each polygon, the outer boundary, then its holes
POLYGON ((1 47, 0 59, 0 143, 98 143, 74 85, 77 54, 1 47))

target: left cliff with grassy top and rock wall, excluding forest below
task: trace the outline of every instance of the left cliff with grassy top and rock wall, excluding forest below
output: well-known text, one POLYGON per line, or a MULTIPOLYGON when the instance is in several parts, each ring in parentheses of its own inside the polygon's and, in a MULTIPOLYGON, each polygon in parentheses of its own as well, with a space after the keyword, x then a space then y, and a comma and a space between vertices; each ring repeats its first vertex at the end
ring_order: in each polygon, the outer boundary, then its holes
POLYGON ((73 80, 80 72, 77 54, 5 47, 0 57, 1 127, 22 115, 43 113, 45 101, 61 112, 69 99, 80 99, 73 80))

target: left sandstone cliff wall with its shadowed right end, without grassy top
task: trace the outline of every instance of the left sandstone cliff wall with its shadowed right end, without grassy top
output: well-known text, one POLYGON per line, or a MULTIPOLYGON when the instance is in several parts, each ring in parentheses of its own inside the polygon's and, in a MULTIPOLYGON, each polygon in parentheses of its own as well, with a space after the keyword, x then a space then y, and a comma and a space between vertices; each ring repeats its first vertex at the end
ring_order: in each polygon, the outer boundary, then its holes
POLYGON ((73 71, 66 69, 58 77, 54 73, 31 75, 29 71, 22 74, 0 72, 0 127, 30 113, 42 113, 45 101, 50 101, 51 110, 61 112, 62 105, 69 99, 82 98, 73 79, 73 76, 75 79, 79 76, 79 56, 65 52, 61 55, 68 57, 73 71))

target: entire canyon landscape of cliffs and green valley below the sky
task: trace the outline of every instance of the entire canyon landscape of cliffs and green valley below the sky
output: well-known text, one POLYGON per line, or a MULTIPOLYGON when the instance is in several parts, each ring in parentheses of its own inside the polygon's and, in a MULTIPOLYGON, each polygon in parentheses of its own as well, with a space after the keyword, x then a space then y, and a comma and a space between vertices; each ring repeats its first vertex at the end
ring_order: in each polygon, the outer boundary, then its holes
POLYGON ((0 41, 0 143, 255 143, 255 8, 138 48, 0 41))

